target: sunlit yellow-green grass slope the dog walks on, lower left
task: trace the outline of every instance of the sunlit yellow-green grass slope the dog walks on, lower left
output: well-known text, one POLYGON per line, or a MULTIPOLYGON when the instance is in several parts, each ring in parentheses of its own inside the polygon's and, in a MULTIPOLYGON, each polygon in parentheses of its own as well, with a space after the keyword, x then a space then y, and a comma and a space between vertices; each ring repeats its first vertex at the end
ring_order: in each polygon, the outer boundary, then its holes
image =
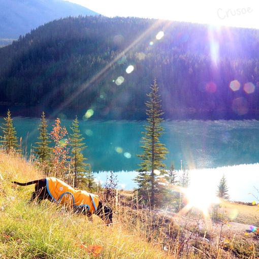
POLYGON ((0 152, 0 174, 1 258, 93 258, 78 247, 80 242, 101 245, 101 258, 167 258, 158 245, 142 241, 116 218, 108 227, 97 216, 90 223, 48 201, 28 204, 33 186, 17 187, 10 181, 42 176, 23 159, 0 152))

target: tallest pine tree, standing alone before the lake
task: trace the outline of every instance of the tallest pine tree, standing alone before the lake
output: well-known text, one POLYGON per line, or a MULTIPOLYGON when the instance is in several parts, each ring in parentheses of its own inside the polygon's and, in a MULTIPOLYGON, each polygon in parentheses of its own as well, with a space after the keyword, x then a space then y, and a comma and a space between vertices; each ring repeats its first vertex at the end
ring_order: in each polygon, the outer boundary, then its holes
POLYGON ((159 196, 160 191, 158 186, 157 177, 165 173, 166 165, 162 163, 162 159, 165 159, 167 148, 164 144, 160 143, 159 137, 164 134, 164 128, 160 126, 160 123, 164 122, 161 118, 163 112, 161 111, 161 101, 159 100, 160 95, 158 92, 158 85, 156 79, 154 79, 153 85, 151 85, 151 92, 147 94, 150 101, 145 104, 147 106, 146 114, 147 124, 145 125, 145 133, 142 133, 143 145, 141 148, 144 149, 142 155, 138 155, 142 159, 142 163, 139 165, 140 174, 135 178, 138 184, 138 192, 145 200, 148 200, 150 195, 150 205, 157 204, 155 195, 159 196))

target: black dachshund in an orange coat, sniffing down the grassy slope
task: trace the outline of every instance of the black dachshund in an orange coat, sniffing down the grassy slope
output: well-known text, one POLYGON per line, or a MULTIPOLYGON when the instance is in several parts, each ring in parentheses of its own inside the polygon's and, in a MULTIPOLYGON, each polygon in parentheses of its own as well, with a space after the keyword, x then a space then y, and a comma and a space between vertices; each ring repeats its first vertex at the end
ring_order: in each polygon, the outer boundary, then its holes
POLYGON ((13 183, 21 186, 35 184, 35 191, 31 194, 30 202, 35 199, 39 202, 47 199, 70 206, 75 213, 87 215, 90 221, 92 221, 94 213, 102 218, 107 225, 112 223, 112 209, 104 205, 97 195, 73 188, 57 178, 48 177, 27 183, 15 181, 13 183))

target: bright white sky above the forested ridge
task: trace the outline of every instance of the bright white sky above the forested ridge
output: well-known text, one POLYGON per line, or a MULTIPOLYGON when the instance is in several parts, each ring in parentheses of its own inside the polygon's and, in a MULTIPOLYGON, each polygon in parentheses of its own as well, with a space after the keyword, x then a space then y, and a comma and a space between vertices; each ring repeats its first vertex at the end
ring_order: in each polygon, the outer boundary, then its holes
MULTIPOLYGON (((65 0, 66 1, 66 0, 65 0)), ((258 0, 69 0, 108 17, 133 16, 259 28, 258 0)))

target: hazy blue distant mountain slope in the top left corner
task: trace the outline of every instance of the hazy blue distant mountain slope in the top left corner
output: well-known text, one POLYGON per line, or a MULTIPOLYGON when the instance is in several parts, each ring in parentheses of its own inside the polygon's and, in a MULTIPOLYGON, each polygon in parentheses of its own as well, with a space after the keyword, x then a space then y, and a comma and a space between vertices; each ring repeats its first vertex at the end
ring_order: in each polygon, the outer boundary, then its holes
POLYGON ((98 14, 62 0, 0 0, 0 10, 0 38, 4 39, 18 39, 55 19, 98 14))

